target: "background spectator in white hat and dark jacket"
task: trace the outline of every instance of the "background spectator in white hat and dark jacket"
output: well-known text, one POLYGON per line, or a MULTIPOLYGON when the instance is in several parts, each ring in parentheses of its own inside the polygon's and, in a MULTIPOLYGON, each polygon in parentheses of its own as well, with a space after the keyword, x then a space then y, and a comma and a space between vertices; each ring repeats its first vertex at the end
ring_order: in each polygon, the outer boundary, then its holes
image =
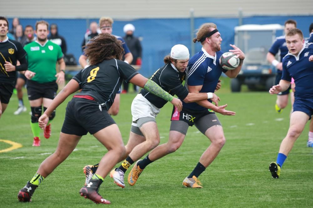
MULTIPOLYGON (((125 36, 123 37, 126 45, 128 46, 131 54, 133 55, 133 61, 130 63, 131 65, 141 65, 141 54, 142 48, 139 38, 134 36, 135 27, 132 24, 126 24, 123 28, 125 36)), ((122 93, 128 92, 128 82, 123 82, 123 90, 122 93)), ((136 92, 136 85, 134 86, 134 91, 136 92)))

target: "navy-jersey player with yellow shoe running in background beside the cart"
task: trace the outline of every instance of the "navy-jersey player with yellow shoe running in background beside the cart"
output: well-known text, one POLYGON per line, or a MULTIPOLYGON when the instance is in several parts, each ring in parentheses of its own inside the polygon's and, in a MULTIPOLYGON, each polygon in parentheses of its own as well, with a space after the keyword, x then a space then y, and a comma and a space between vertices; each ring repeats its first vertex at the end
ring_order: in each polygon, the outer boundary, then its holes
MULTIPOLYGON (((290 29, 297 27, 297 22, 294 20, 287 20, 285 22, 285 33, 287 33, 290 29)), ((269 49, 267 53, 267 60, 272 63, 277 69, 275 85, 278 85, 281 75, 282 75, 282 59, 288 53, 288 49, 286 46, 285 36, 279 36, 275 39, 273 45, 269 49), (275 55, 280 52, 280 61, 275 59, 275 55)), ((275 110, 277 113, 281 113, 281 110, 284 109, 288 104, 288 94, 290 88, 286 89, 284 92, 280 92, 276 99, 275 110)), ((292 95, 290 95, 292 96, 292 95)))

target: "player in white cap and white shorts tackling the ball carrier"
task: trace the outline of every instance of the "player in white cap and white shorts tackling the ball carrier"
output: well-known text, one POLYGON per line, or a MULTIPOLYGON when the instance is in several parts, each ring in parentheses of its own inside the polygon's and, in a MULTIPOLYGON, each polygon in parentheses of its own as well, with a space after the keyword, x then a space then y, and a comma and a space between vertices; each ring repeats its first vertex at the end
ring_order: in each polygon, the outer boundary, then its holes
MULTIPOLYGON (((171 54, 164 58, 165 65, 156 70, 152 75, 151 80, 171 95, 176 94, 178 98, 184 102, 189 103, 211 99, 214 103, 218 104, 219 98, 216 94, 189 93, 182 85, 188 61, 188 48, 184 45, 173 46, 171 54)), ((110 173, 110 177, 113 177, 114 182, 118 186, 121 186, 122 188, 125 187, 124 174, 131 164, 153 148, 157 147, 160 143, 160 135, 155 118, 166 103, 166 100, 161 99, 144 89, 141 89, 140 93, 137 94, 133 100, 131 104, 131 114, 133 116, 131 132, 126 145, 126 152, 124 157, 121 158, 121 160, 125 160, 121 163, 120 167, 113 169, 110 173)), ((170 133, 170 140, 173 139, 171 137, 170 133)), ((88 174, 86 174, 86 183, 89 182, 97 167, 98 164, 94 166, 85 166, 85 169, 89 169, 88 174)), ((138 162, 136 162, 134 168, 131 170, 130 176, 128 177, 128 183, 131 186, 135 184, 138 176, 142 172, 138 162)))

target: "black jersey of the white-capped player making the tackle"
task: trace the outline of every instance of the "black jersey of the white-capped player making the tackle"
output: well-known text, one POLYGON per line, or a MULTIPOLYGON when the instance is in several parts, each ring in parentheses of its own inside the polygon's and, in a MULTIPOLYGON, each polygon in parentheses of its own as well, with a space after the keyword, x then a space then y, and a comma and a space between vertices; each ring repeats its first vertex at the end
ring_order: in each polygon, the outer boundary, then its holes
MULTIPOLYGON (((173 64, 165 64, 159 68, 151 77, 151 80, 158 84, 169 94, 176 94, 180 99, 185 99, 188 95, 187 89, 182 85, 185 79, 185 72, 179 72, 173 64)), ((140 93, 154 104, 157 108, 162 108, 167 101, 148 91, 141 89, 140 93)))

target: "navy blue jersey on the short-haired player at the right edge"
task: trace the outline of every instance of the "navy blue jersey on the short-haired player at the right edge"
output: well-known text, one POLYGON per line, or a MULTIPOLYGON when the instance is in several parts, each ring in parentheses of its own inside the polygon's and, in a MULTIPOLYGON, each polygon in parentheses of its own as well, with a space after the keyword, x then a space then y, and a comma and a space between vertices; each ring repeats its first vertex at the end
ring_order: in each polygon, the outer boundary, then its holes
POLYGON ((313 98, 313 62, 309 57, 313 55, 313 43, 303 46, 298 56, 288 53, 283 58, 282 80, 295 80, 295 97, 313 98))

